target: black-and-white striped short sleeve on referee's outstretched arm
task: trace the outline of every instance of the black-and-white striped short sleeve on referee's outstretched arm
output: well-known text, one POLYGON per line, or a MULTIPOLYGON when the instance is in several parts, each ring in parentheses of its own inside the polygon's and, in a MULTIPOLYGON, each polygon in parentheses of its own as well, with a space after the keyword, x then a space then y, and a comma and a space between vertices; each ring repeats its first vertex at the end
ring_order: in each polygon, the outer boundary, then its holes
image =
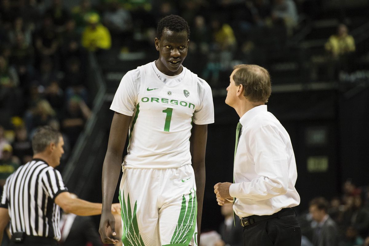
POLYGON ((48 169, 41 176, 42 186, 45 193, 54 201, 62 192, 68 191, 65 187, 60 172, 56 169, 48 169))

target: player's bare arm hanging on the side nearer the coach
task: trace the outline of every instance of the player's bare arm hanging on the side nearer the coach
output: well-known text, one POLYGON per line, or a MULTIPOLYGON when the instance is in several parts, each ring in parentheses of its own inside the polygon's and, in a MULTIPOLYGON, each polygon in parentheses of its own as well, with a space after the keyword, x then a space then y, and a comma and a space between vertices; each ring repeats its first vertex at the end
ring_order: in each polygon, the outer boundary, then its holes
POLYGON ((207 141, 207 125, 192 125, 190 152, 192 167, 195 173, 197 196, 197 245, 200 244, 201 216, 205 190, 205 150, 207 141))

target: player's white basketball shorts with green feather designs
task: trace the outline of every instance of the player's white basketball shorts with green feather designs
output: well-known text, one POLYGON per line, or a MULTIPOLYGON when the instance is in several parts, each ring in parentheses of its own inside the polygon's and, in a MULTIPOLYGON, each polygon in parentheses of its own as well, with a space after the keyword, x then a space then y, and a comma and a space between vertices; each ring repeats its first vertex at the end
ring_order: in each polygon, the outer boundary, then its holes
POLYGON ((191 165, 124 169, 119 189, 124 246, 197 246, 191 165))

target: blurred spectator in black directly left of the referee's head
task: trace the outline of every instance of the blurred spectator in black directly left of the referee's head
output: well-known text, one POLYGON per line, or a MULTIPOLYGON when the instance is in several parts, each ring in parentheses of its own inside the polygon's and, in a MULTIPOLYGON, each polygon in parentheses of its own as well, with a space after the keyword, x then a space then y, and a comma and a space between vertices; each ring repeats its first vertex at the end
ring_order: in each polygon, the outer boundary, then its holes
POLYGON ((15 129, 15 139, 12 145, 13 154, 20 159, 21 164, 32 160, 32 144, 28 138, 27 129, 24 126, 15 129))

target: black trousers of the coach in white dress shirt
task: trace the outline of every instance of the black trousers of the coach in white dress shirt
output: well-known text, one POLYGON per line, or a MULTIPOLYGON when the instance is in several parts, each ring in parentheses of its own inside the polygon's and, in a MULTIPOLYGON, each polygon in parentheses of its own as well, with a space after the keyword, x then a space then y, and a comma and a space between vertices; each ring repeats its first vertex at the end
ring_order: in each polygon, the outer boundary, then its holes
POLYGON ((245 226, 242 234, 244 246, 301 246, 301 229, 294 214, 260 220, 245 226))

